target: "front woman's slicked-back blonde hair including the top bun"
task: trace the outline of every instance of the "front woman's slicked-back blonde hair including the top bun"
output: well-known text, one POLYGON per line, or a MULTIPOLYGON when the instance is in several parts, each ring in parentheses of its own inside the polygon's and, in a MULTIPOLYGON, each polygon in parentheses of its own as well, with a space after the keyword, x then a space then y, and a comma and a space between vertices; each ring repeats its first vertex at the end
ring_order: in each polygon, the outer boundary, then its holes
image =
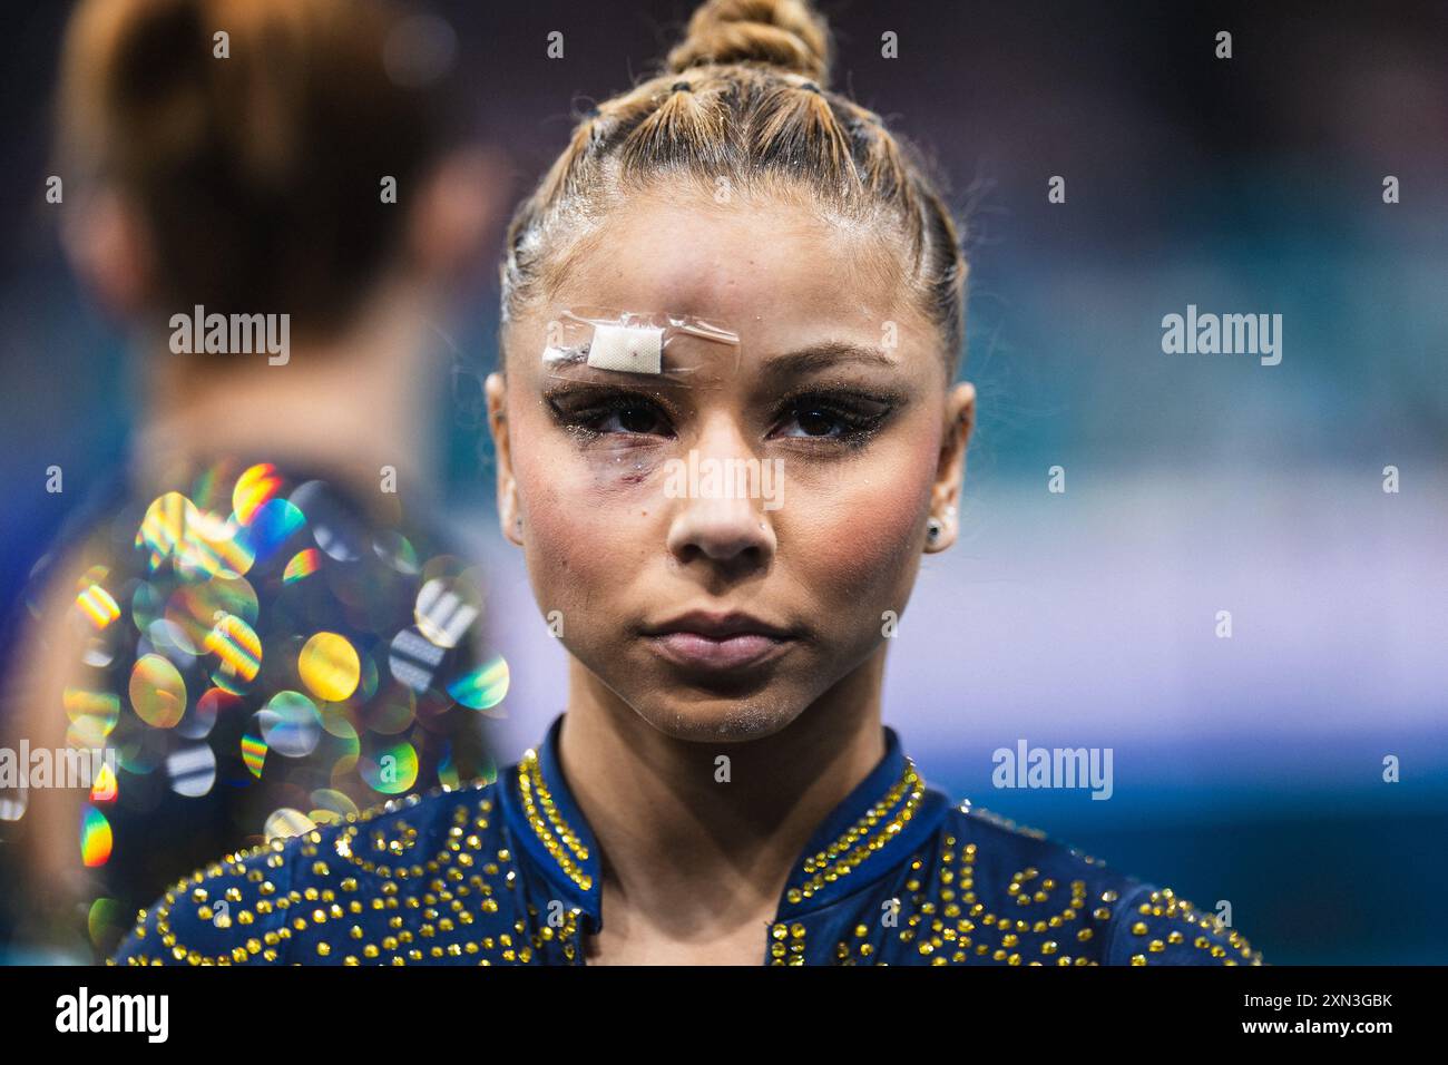
POLYGON ((712 191, 807 190, 877 227, 953 377, 964 341, 966 259, 950 209, 915 151, 828 88, 825 20, 805 0, 707 0, 662 71, 599 103, 508 227, 502 323, 547 293, 628 190, 659 180, 712 191))

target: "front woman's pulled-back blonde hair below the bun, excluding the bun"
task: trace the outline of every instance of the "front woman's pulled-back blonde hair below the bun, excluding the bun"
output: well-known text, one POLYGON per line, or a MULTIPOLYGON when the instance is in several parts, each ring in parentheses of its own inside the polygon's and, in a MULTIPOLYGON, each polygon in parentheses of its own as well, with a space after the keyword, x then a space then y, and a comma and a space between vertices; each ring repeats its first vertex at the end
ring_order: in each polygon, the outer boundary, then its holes
MULTIPOLYGON (((595 201, 607 193, 595 193, 595 188, 613 190, 628 178, 662 172, 672 161, 641 146, 657 136, 663 122, 695 122, 699 123, 695 128, 701 128, 699 109, 712 112, 707 117, 718 120, 715 129, 725 138, 718 145, 720 168, 737 168, 738 156, 754 159, 770 122, 776 138, 798 133, 802 122, 821 123, 824 136, 840 145, 840 151, 830 149, 828 158, 831 170, 843 180, 820 188, 820 183, 811 183, 820 175, 807 171, 799 181, 846 210, 883 207, 885 214, 895 219, 896 232, 906 238, 909 280, 925 290, 928 317, 941 330, 947 368, 953 372, 963 339, 966 262, 954 220, 940 194, 908 145, 898 142, 875 112, 821 88, 807 75, 763 62, 702 64, 662 74, 589 109, 573 129, 568 148, 534 194, 518 207, 508 227, 501 268, 502 322, 521 309, 542 280, 544 236, 556 223, 566 217, 576 235, 601 213, 595 201), (795 110, 788 110, 791 103, 780 96, 782 88, 817 94, 821 106, 795 104, 795 110), (728 159, 730 155, 736 158, 728 159)), ((695 168, 701 165, 698 156, 691 162, 695 168)), ((789 177, 786 171, 779 172, 789 177)), ((822 177, 828 181, 830 174, 822 177)))

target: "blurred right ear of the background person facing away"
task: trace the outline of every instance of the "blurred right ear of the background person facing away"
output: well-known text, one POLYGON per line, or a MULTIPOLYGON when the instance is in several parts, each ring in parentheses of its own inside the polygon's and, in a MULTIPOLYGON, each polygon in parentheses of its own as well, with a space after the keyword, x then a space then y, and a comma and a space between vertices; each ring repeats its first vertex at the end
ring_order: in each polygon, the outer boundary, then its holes
POLYGON ((421 275, 446 284, 472 267, 507 201, 510 167, 498 148, 449 152, 424 178, 407 222, 407 245, 421 275))

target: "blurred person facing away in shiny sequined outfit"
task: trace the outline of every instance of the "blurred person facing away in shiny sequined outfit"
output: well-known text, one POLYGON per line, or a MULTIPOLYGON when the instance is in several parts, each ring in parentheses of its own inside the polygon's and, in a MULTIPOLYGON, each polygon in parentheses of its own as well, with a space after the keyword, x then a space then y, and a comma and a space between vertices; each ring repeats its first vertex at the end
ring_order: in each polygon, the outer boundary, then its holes
POLYGON ((502 193, 449 33, 382 0, 71 19, 62 241, 142 410, 3 678, 12 959, 88 961, 207 858, 491 771, 507 668, 430 513, 436 323, 502 193), (65 752, 100 753, 80 785, 65 752))

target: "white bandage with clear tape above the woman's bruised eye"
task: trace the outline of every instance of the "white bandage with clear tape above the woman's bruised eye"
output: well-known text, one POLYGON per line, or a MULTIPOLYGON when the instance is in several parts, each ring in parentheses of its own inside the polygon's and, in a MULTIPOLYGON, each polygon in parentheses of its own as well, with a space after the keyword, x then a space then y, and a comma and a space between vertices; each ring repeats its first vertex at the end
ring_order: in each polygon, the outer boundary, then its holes
POLYGON ((552 377, 711 387, 738 371, 738 333, 718 319, 613 307, 556 307, 543 371, 552 377))

